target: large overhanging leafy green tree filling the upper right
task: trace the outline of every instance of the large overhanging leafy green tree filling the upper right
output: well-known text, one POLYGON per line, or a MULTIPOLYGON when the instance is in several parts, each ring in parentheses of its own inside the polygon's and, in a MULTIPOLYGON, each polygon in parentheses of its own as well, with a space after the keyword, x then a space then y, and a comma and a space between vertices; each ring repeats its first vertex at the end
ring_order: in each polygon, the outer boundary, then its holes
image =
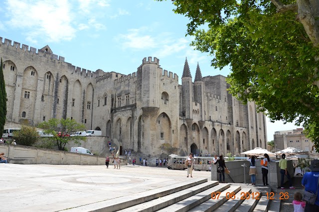
MULTIPOLYGON (((160 0, 161 1, 161 0, 160 0)), ((319 152, 319 0, 173 0, 211 65, 230 65, 229 92, 271 121, 305 127, 319 152)))

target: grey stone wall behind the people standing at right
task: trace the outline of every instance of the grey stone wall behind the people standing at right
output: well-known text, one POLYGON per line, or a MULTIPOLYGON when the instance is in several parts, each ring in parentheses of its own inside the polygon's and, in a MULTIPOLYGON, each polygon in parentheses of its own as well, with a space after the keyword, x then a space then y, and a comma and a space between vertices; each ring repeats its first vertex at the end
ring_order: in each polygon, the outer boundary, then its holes
MULTIPOLYGON (((268 165, 268 183, 271 187, 279 187, 280 181, 281 181, 281 174, 280 174, 280 168, 278 166, 279 161, 277 162, 271 162, 268 165)), ((225 174, 225 182, 226 183, 244 183, 245 177, 246 177, 246 183, 251 183, 250 176, 249 176, 249 167, 250 163, 247 160, 235 160, 235 161, 226 161, 225 163, 226 167, 229 169, 230 174, 225 174), (245 167, 245 175, 244 175, 244 167, 241 166, 243 164, 246 164, 247 167, 245 167)), ((293 161, 288 160, 288 172, 291 177, 294 177, 294 167, 293 167, 293 161)), ((217 172, 218 163, 216 165, 213 165, 211 168, 211 180, 219 180, 219 173, 217 172)), ((256 161, 256 168, 257 168, 257 175, 256 175, 256 183, 257 184, 263 184, 262 179, 262 172, 261 172, 261 165, 260 160, 256 161)), ((285 181, 287 182, 288 179, 285 177, 285 181)))

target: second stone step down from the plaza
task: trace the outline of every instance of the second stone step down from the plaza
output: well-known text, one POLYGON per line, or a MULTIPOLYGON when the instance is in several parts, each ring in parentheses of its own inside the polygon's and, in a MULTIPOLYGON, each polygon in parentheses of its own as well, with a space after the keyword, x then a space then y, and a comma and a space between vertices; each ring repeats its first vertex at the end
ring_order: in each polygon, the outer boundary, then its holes
POLYGON ((203 192, 207 189, 214 188, 215 191, 225 190, 229 188, 227 184, 219 184, 218 181, 209 181, 206 183, 199 184, 197 186, 184 189, 182 191, 167 195, 165 197, 158 198, 156 200, 149 201, 137 206, 133 206, 120 212, 154 212, 160 209, 166 208, 170 205, 173 205, 179 201, 182 201, 186 198, 192 197, 200 192, 203 192))

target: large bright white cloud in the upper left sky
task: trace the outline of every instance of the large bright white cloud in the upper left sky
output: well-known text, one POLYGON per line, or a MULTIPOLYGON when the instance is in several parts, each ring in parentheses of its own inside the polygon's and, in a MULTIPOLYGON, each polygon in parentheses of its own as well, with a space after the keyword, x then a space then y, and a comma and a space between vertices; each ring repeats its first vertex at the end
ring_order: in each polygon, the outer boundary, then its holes
POLYGON ((67 1, 8 0, 6 6, 6 15, 9 17, 6 24, 24 29, 29 41, 35 42, 41 37, 57 42, 75 36, 76 30, 71 25, 71 8, 67 1))

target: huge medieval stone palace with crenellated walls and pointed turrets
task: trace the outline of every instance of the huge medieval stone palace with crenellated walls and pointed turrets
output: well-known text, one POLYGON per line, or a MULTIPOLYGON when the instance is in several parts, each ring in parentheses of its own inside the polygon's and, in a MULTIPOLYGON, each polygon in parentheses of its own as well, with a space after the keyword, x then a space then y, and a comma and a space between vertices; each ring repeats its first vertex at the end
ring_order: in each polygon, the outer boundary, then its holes
MULTIPOLYGON (((194 80, 187 59, 181 84, 157 58, 144 58, 136 72, 95 72, 52 53, 0 38, 7 92, 7 121, 36 125, 71 118, 87 130, 120 141, 123 149, 160 155, 162 144, 187 155, 226 154, 267 147, 265 116, 254 102, 227 92, 225 76, 194 80)), ((181 67, 182 69, 182 67, 181 67)))

